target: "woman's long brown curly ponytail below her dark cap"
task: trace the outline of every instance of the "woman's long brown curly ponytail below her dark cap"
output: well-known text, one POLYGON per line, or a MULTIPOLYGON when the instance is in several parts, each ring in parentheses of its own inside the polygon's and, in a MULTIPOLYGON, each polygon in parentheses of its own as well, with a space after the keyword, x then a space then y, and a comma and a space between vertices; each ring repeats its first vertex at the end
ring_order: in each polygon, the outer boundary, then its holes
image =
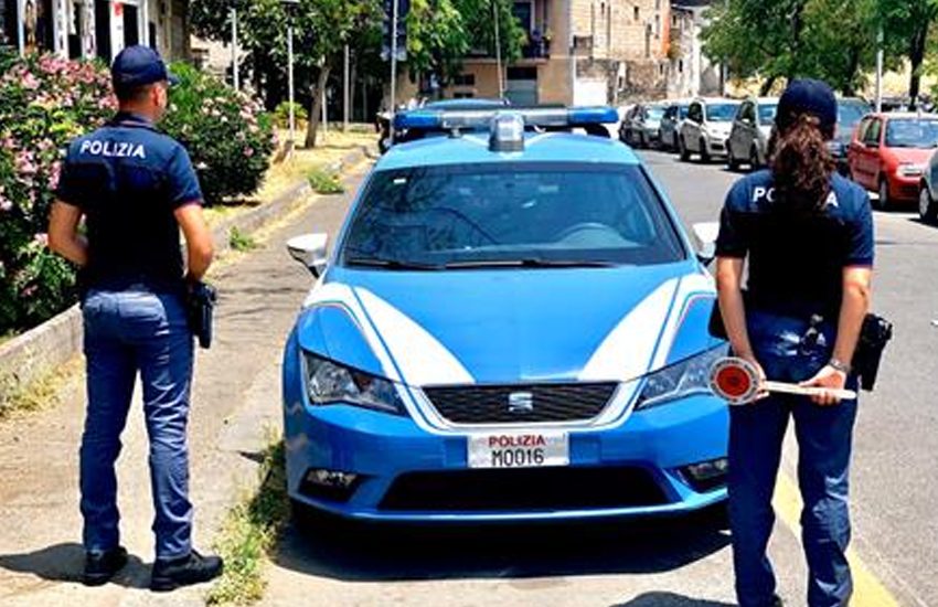
POLYGON ((827 143, 833 132, 825 132, 811 114, 800 114, 788 125, 776 129, 769 141, 776 200, 786 210, 812 213, 823 207, 836 168, 827 143))

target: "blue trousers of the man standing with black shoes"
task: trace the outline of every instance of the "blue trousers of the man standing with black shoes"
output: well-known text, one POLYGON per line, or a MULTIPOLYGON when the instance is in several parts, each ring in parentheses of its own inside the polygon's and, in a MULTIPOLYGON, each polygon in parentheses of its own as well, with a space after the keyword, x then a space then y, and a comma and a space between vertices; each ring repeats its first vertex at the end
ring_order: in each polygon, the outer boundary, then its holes
POLYGON ((157 558, 191 551, 185 426, 193 340, 181 296, 146 290, 92 290, 82 311, 88 406, 81 448, 84 545, 118 545, 120 519, 114 465, 140 374, 150 443, 157 558))

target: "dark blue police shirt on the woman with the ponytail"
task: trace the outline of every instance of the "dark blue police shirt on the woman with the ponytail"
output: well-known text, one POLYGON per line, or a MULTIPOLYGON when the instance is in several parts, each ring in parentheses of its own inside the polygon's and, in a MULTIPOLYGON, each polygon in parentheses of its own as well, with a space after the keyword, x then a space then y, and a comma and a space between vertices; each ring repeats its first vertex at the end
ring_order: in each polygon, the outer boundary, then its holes
POLYGON ((840 312, 843 268, 873 266, 873 214, 866 191, 839 174, 822 209, 792 213, 775 196, 770 170, 729 190, 716 254, 748 255, 747 303, 790 316, 840 312))

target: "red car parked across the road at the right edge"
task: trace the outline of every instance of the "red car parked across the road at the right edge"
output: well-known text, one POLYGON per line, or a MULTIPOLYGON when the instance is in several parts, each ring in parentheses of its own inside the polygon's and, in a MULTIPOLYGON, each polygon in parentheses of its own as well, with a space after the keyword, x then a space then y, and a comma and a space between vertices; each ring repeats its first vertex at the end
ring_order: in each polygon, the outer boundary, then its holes
POLYGON ((878 209, 918 200, 921 175, 938 147, 938 115, 871 114, 853 131, 850 174, 878 192, 878 209))

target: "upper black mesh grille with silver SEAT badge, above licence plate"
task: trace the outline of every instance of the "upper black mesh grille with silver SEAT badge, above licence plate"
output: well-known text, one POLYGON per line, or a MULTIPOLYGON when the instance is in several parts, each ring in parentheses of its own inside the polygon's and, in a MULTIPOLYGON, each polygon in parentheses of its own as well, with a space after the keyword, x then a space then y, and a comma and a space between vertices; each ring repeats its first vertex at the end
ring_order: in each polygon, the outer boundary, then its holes
POLYGON ((606 408, 616 383, 426 387, 436 411, 454 424, 583 422, 606 408))

